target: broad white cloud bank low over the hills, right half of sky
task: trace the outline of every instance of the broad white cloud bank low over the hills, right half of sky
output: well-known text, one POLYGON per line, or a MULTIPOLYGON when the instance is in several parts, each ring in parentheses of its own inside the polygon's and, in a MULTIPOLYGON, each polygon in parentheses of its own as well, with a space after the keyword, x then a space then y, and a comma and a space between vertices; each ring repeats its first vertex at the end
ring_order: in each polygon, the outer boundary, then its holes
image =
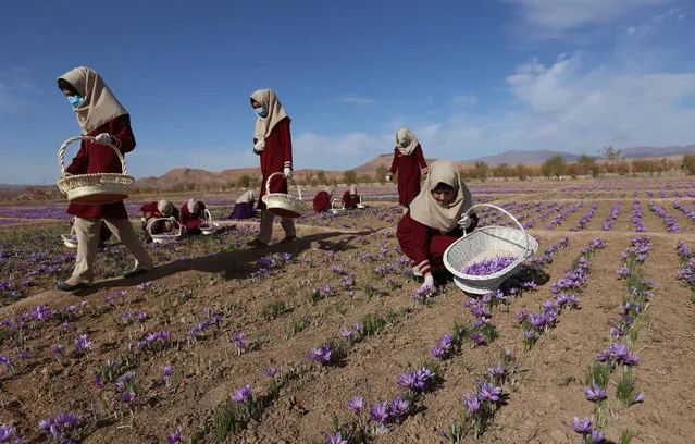
MULTIPOLYGON (((492 115, 459 110, 445 121, 413 124, 425 156, 466 160, 524 149, 595 155, 608 144, 695 143, 695 108, 684 104, 695 98, 695 73, 587 67, 575 53, 560 54, 548 65, 531 59, 505 82, 510 103, 492 115)), ((295 161, 302 166, 346 170, 389 152, 393 134, 327 138, 308 133, 295 147, 295 161)))

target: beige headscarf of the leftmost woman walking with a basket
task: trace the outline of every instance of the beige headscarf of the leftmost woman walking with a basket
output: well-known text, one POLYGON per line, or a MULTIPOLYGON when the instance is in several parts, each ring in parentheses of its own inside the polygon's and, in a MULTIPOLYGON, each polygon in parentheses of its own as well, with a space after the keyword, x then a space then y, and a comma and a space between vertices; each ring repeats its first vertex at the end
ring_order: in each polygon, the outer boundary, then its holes
POLYGON ((78 66, 63 74, 60 78, 71 84, 85 99, 75 108, 77 123, 82 127, 83 135, 128 113, 95 70, 78 66))

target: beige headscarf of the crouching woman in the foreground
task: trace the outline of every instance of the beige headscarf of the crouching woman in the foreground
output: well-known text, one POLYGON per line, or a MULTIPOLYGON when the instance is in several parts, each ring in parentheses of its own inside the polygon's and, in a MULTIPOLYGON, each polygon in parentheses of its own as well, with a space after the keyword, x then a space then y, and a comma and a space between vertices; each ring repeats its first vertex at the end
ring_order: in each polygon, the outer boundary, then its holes
POLYGON ((423 225, 448 233, 473 205, 473 196, 461 181, 459 170, 450 160, 440 159, 432 162, 420 194, 410 202, 410 217, 423 225), (432 196, 439 183, 454 187, 456 193, 456 198, 446 207, 432 196))

